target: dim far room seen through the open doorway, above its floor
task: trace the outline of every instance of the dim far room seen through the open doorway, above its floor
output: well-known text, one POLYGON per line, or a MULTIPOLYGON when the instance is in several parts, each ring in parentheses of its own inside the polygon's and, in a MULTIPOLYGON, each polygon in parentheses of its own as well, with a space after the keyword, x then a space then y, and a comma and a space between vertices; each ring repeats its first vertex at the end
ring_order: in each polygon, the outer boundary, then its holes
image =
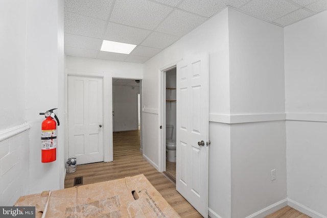
MULTIPOLYGON (((142 132, 142 80, 112 78, 112 132, 142 132)), ((142 141, 141 147, 142 151, 142 141)))

